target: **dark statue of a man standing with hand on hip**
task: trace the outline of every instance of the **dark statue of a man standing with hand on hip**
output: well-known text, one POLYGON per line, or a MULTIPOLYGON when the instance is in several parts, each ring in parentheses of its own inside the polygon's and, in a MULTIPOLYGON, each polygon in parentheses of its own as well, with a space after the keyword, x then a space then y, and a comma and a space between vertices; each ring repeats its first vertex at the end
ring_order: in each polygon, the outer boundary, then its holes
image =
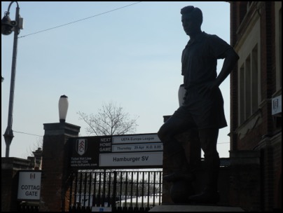
MULTIPOLYGON (((190 36, 181 56, 186 95, 183 105, 163 124, 158 136, 164 144, 177 144, 176 135, 191 128, 198 129, 207 179, 204 191, 189 196, 188 202, 216 203, 219 202, 219 153, 216 144, 219 129, 227 126, 219 85, 230 74, 239 57, 226 41, 202 32, 202 11, 199 8, 182 8, 181 22, 190 36), (224 59, 224 62, 217 76, 218 59, 224 59)), ((165 180, 177 178, 178 175, 169 174, 165 180)))

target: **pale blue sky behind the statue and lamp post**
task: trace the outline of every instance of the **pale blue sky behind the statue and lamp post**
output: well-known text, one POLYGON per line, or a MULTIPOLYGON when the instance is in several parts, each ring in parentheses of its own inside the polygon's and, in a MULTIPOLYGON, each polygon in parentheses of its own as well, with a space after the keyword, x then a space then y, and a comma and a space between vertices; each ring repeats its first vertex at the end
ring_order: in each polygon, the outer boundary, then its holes
MULTIPOLYGON (((11 1, 1 1, 1 15, 11 1)), ((180 10, 203 13, 202 31, 230 43, 226 1, 18 1, 24 29, 18 39, 14 138, 10 157, 27 158, 44 135, 43 123, 58 123, 58 101, 67 95, 67 123, 81 126, 78 111, 96 114, 116 102, 137 119, 137 132, 156 133, 163 116, 179 107, 181 52, 189 37, 180 10), (135 4, 137 3, 137 4, 135 4), (132 6, 130 6, 133 4, 132 6), (127 6, 127 7, 125 7, 127 6), (119 9, 120 8, 120 9, 119 9), (80 20, 80 21, 78 21, 80 20), (77 22, 78 21, 78 22, 77 22), (69 25, 67 25, 69 24, 69 25)), ((15 20, 16 4, 10 10, 15 20)), ((1 35, 1 156, 8 123, 13 34, 1 35)), ((218 72, 222 61, 219 60, 218 72)), ((220 86, 228 127, 219 132, 220 157, 229 156, 230 78, 220 86)))

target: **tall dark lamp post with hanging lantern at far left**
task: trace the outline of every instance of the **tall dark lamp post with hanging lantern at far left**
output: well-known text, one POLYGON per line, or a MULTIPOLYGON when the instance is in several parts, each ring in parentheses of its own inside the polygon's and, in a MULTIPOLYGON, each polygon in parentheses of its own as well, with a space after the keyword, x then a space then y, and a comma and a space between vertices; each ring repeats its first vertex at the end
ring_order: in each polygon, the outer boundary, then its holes
MULTIPOLYGON (((11 85, 10 85, 10 98, 9 98, 9 109, 8 109, 8 125, 4 134, 6 142, 6 158, 9 156, 10 145, 14 137, 12 125, 13 125, 13 102, 14 102, 14 90, 15 90, 15 67, 17 62, 17 46, 18 46, 18 34, 22 29, 22 18, 20 18, 20 8, 18 1, 11 1, 8 6, 8 11, 5 12, 4 18, 1 20, 1 34, 9 35, 14 32, 14 43, 13 43, 13 57, 12 57, 12 69, 11 69, 11 85), (17 4, 15 11, 15 20, 12 21, 9 17, 10 8, 13 3, 17 4)), ((4 78, 2 78, 3 80, 4 78)))

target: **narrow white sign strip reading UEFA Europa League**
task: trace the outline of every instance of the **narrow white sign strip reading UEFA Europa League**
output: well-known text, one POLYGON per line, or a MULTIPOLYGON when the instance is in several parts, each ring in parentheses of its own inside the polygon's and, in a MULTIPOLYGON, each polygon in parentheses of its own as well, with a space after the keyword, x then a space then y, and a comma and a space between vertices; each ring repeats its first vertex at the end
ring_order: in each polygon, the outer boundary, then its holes
POLYGON ((124 135, 112 137, 112 144, 139 144, 161 142, 158 135, 124 135))

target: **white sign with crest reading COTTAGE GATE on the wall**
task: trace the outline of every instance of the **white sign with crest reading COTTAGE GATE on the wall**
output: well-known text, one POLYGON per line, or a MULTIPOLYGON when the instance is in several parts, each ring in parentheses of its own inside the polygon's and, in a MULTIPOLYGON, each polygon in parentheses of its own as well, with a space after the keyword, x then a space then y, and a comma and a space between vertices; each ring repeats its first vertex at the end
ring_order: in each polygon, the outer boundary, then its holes
POLYGON ((41 196, 41 172, 19 172, 18 200, 39 200, 41 196))

